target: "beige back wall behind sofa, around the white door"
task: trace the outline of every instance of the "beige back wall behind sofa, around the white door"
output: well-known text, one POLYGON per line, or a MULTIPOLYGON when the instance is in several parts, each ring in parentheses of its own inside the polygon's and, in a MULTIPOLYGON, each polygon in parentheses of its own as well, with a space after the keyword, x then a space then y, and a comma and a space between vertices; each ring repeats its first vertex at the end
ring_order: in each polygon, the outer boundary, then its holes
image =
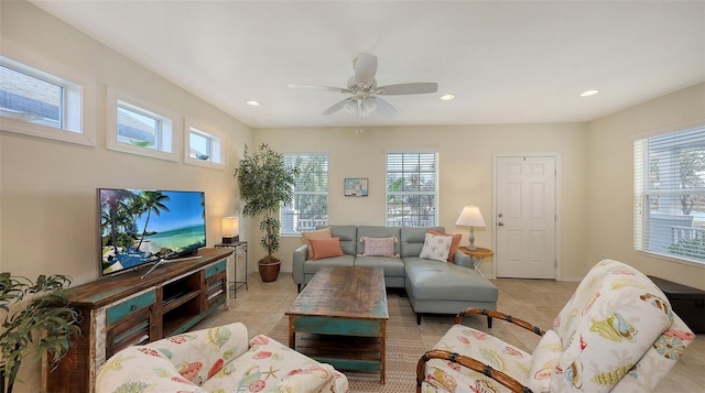
MULTIPOLYGON (((455 220, 464 205, 478 205, 488 227, 475 231, 475 243, 489 248, 494 244, 495 228, 494 154, 555 153, 560 161, 562 200, 561 275, 576 277, 587 271, 585 131, 586 125, 578 123, 365 128, 360 134, 354 129, 267 129, 256 130, 254 140, 280 152, 328 152, 330 223, 341 225, 384 225, 386 152, 438 152, 440 225, 446 231, 463 233, 463 243, 467 243, 467 229, 456 227, 455 220), (345 177, 369 178, 369 196, 343 196, 345 177)), ((282 239, 279 256, 283 270, 291 271, 292 252, 301 244, 297 237, 282 239)), ((250 258, 257 260, 262 254, 263 251, 252 249, 250 258)), ((492 263, 491 259, 486 261, 482 270, 491 274, 492 263)))

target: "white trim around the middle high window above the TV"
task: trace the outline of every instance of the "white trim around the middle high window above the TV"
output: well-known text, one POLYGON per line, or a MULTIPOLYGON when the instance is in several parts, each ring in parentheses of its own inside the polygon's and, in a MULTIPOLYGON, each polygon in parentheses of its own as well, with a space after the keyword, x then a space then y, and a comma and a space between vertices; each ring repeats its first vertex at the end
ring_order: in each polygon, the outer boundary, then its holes
POLYGON ((174 162, 180 161, 181 142, 182 142, 183 133, 180 133, 176 130, 180 129, 183 122, 180 121, 181 118, 178 116, 165 109, 143 102, 137 98, 132 98, 126 94, 122 94, 116 90, 112 87, 108 87, 107 98, 108 99, 106 103, 106 149, 123 152, 123 153, 135 154, 135 155, 143 155, 152 159, 160 159, 160 160, 174 161, 174 162), (172 137, 171 152, 134 146, 129 143, 123 143, 118 141, 118 101, 122 101, 128 105, 139 107, 141 109, 156 113, 158 116, 170 120, 171 137, 172 137))

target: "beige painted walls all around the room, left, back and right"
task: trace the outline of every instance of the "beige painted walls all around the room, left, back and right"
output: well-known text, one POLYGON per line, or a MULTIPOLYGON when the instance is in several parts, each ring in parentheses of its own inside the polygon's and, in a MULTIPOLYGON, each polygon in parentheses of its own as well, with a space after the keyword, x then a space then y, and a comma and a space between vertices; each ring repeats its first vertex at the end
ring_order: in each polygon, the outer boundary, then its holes
MULTIPOLYGON (((330 222, 383 225, 384 153, 440 153, 440 223, 454 222, 462 206, 477 204, 488 222, 476 243, 494 244, 492 155, 555 153, 560 160, 560 271, 579 280, 599 259, 634 264, 648 274, 705 288, 705 270, 637 255, 631 245, 631 141, 654 129, 703 117, 699 85, 604 119, 583 123, 436 125, 354 129, 250 130, 237 119, 174 86, 26 2, 0 2, 3 45, 39 53, 94 78, 97 143, 80 146, 0 132, 0 271, 36 276, 62 273, 75 284, 98 279, 97 187, 149 187, 206 192, 208 245, 220 239, 220 217, 237 212, 232 168, 245 143, 267 142, 281 152, 328 152, 330 222), (106 87, 202 119, 225 135, 224 171, 133 156, 105 149, 106 87), (368 177, 369 197, 343 196, 345 177, 368 177)), ((262 256, 256 225, 243 222, 250 269, 262 256)), ((283 269, 291 271, 299 238, 282 239, 283 269)), ((492 262, 484 265, 491 273, 492 262)), ((18 392, 39 391, 39 370, 24 365, 18 392)))

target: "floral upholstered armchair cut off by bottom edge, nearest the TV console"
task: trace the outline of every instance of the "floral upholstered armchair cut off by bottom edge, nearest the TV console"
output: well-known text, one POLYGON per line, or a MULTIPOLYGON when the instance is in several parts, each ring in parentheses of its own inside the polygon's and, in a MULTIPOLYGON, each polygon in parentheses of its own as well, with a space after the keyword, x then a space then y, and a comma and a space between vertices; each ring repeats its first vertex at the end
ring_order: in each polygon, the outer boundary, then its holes
POLYGON ((347 392, 347 378, 267 336, 248 342, 235 323, 113 354, 98 371, 107 392, 347 392))

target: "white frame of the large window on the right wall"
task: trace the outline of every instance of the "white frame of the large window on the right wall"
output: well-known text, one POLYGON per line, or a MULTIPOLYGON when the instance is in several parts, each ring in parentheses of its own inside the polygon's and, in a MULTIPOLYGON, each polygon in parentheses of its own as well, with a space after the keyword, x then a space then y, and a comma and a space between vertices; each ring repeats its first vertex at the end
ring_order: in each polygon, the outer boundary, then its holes
MULTIPOLYGON (((633 249, 636 253, 644 254, 648 256, 654 256, 663 260, 669 260, 677 263, 705 268, 705 258, 703 260, 698 260, 696 258, 691 258, 687 255, 681 255, 677 253, 668 253, 668 252, 659 252, 655 250, 651 250, 649 243, 649 231, 652 231, 652 226, 649 225, 649 220, 653 214, 651 211, 651 200, 653 196, 677 196, 686 193, 682 188, 651 188, 650 186, 650 162, 651 157, 649 156, 648 142, 649 140, 657 138, 664 138, 669 135, 679 135, 683 137, 690 132, 695 131, 705 133, 705 120, 698 121, 695 123, 679 125, 674 128, 670 128, 666 130, 661 130, 658 132, 651 132, 648 134, 637 135, 633 140, 633 249), (646 163, 646 167, 644 167, 646 163), (647 208, 644 208, 647 206, 647 208)), ((679 138, 674 137, 674 138, 679 138)), ((690 146, 686 143, 683 143, 684 146, 690 146)), ((695 192, 695 194, 704 193, 702 188, 690 188, 688 194, 695 192)), ((661 215, 665 217, 673 217, 675 220, 677 217, 686 217, 683 215, 679 216, 669 216, 661 215)), ((673 243, 671 244, 673 245, 673 243)))

